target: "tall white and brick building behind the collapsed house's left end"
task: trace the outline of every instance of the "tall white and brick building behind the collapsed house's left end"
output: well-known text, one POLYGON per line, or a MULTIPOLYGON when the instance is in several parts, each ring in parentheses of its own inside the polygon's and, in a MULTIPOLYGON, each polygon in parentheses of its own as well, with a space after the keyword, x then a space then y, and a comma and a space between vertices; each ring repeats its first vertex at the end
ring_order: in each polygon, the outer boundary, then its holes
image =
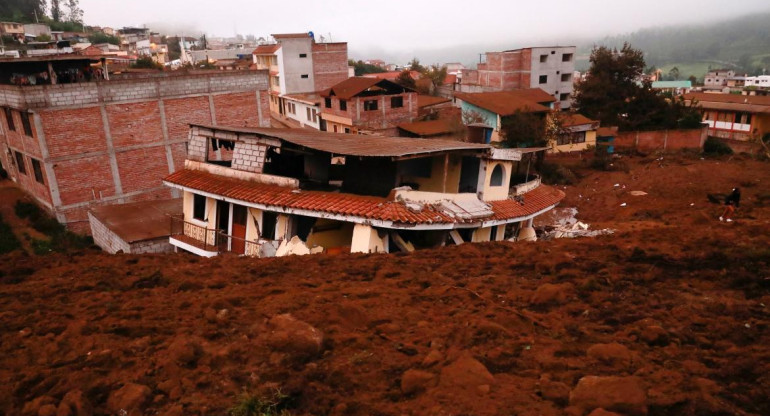
POLYGON ((347 79, 348 44, 316 42, 308 33, 272 36, 275 43, 259 45, 252 53, 257 69, 270 74, 270 110, 303 123, 307 114, 296 107, 306 102, 292 96, 316 93, 347 79))

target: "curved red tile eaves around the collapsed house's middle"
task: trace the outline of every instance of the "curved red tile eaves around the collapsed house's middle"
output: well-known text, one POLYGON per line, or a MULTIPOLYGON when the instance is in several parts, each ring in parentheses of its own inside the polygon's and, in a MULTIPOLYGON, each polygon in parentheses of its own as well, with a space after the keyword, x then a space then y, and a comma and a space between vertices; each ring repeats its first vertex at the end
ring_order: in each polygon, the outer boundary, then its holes
MULTIPOLYGON (((313 210, 327 214, 349 215, 400 224, 427 225, 458 222, 456 218, 450 217, 430 205, 425 205, 422 211, 416 212, 409 210, 401 202, 391 201, 387 198, 297 190, 191 169, 182 169, 172 173, 164 179, 164 182, 275 209, 313 210)), ((523 205, 514 200, 491 202, 494 214, 484 220, 507 220, 532 215, 558 204, 563 198, 564 193, 560 190, 540 186, 524 194, 523 205)))

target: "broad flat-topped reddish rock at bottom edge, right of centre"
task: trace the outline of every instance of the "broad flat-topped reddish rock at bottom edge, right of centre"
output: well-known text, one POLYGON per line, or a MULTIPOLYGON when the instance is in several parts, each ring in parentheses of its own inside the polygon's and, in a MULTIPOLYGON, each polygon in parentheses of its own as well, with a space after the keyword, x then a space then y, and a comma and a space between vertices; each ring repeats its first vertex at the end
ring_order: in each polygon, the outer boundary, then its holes
POLYGON ((570 392, 569 403, 584 412, 602 408, 632 416, 647 414, 647 392, 639 377, 586 376, 570 392))

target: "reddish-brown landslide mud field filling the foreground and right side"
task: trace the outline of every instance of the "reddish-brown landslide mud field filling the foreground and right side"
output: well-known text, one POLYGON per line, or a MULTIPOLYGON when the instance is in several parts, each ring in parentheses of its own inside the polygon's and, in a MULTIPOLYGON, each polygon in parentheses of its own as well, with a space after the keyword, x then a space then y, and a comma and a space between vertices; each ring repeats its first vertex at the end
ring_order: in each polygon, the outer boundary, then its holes
POLYGON ((0 414, 227 415, 249 397, 290 415, 770 414, 770 165, 618 162, 565 188, 562 207, 616 230, 596 238, 6 254, 0 414), (721 223, 706 194, 733 186, 721 223))

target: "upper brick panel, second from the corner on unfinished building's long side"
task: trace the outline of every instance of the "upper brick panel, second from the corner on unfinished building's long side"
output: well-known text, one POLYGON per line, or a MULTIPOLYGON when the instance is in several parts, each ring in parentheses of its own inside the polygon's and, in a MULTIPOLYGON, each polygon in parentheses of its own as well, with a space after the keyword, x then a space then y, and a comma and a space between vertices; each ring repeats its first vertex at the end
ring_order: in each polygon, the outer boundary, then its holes
POLYGON ((116 148, 163 142, 157 101, 108 105, 106 109, 116 148))

